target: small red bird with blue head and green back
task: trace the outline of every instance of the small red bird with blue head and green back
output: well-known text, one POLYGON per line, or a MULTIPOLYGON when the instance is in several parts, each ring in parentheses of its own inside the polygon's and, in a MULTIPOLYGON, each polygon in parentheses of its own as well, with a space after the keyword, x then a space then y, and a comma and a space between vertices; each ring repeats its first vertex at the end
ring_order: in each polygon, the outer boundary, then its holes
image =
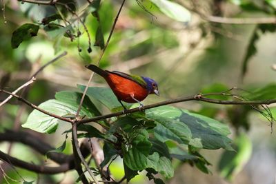
MULTIPOLYGON (((99 74, 103 79, 106 79, 111 90, 117 96, 119 103, 121 101, 139 103, 139 108, 141 108, 143 106, 141 101, 146 99, 148 94, 156 94, 159 96, 157 83, 148 77, 125 74, 117 71, 110 72, 108 70, 102 70, 96 65, 87 65, 86 68, 99 74)), ((121 105, 126 109, 123 103, 121 105)))

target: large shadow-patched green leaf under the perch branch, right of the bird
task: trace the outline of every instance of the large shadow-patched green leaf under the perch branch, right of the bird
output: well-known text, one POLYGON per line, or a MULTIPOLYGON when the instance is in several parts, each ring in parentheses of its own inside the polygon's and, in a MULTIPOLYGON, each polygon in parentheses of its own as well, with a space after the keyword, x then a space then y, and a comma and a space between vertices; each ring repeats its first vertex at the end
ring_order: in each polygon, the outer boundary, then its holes
POLYGON ((190 113, 187 110, 163 106, 146 111, 157 122, 155 136, 159 141, 177 141, 205 149, 223 147, 231 150, 228 126, 215 119, 190 113))

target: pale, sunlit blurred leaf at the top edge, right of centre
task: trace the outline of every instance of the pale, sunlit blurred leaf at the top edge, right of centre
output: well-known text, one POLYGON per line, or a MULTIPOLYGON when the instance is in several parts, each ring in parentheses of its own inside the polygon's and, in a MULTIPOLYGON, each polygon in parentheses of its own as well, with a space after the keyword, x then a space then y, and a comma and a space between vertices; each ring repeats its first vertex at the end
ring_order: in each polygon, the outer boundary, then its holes
POLYGON ((150 1, 152 1, 152 3, 155 3, 155 5, 159 8, 161 12, 166 14, 166 16, 174 19, 175 21, 190 22, 190 12, 178 3, 168 0, 150 1))

